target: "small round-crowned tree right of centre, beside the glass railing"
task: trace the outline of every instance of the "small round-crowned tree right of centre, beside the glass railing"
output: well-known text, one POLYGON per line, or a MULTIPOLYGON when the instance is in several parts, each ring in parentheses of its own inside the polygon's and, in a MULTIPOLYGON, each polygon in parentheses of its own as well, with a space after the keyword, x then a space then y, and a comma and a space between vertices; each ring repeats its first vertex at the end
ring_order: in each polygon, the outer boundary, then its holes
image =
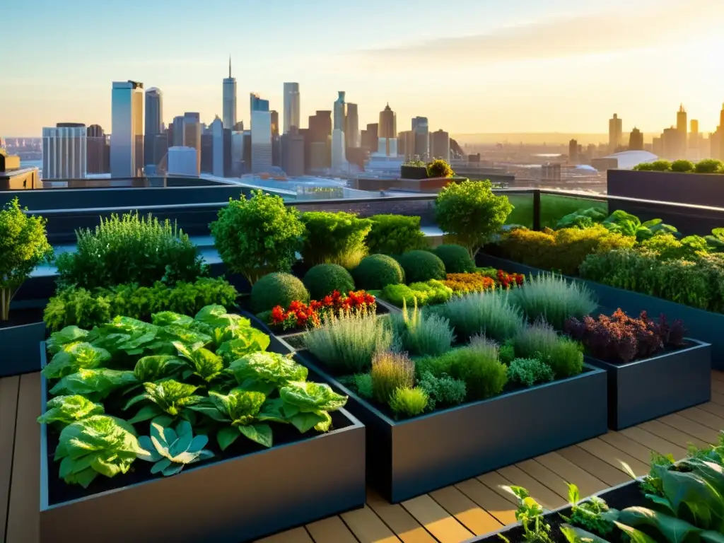
POLYGON ((443 188, 435 203, 437 224, 455 243, 468 249, 472 258, 508 219, 513 206, 496 196, 489 181, 465 180, 443 188))

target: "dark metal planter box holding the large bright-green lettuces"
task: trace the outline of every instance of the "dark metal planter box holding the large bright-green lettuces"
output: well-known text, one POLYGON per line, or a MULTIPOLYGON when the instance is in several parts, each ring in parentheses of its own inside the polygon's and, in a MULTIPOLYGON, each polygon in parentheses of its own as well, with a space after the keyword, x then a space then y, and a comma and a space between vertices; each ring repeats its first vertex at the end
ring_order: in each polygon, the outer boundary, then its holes
MULTIPOLYGON (((41 353, 44 361, 44 343, 41 353)), ((45 412, 45 379, 41 386, 45 412)), ((41 543, 61 534, 75 543, 242 543, 361 508, 365 428, 344 409, 336 414, 348 425, 328 434, 56 504, 49 503, 54 460, 40 425, 41 543)))

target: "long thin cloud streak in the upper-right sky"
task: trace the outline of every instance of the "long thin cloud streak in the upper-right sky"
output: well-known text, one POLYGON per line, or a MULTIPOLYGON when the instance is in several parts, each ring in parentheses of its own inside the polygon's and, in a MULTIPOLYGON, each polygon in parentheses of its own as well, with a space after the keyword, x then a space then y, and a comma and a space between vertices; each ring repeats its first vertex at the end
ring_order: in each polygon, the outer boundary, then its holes
POLYGON ((658 0, 649 9, 617 9, 541 20, 487 34, 454 33, 416 43, 356 51, 361 59, 500 62, 615 53, 683 43, 724 17, 722 0, 658 0))

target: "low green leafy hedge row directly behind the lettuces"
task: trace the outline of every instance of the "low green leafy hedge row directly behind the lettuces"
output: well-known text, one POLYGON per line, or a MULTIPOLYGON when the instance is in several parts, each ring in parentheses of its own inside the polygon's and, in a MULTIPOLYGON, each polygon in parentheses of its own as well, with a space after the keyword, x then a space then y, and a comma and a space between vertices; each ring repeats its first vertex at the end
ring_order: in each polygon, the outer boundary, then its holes
POLYGON ((50 299, 43 320, 51 330, 72 325, 90 329, 117 315, 148 321, 153 313, 161 311, 188 315, 211 304, 230 306, 238 295, 225 279, 210 277, 202 277, 193 283, 177 282, 172 287, 160 281, 151 287, 135 284, 92 290, 67 287, 50 299))

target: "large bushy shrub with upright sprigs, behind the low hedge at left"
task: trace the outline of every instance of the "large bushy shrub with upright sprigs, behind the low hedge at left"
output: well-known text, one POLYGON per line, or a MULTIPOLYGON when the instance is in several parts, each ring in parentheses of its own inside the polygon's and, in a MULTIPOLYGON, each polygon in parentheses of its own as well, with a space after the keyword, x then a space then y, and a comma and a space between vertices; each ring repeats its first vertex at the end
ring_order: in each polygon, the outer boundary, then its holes
POLYGON ((77 251, 56 258, 60 287, 113 287, 136 283, 150 287, 156 281, 175 285, 206 275, 198 248, 168 220, 139 217, 101 217, 95 230, 79 230, 77 251))

